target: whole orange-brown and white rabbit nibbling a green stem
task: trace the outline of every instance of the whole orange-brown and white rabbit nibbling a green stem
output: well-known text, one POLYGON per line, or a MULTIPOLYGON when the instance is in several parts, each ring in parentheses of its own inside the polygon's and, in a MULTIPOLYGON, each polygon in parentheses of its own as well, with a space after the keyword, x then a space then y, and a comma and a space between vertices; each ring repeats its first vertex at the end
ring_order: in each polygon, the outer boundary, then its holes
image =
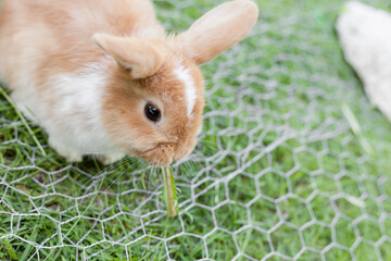
POLYGON ((0 78, 68 161, 167 165, 201 130, 198 65, 241 40, 257 7, 224 3, 167 36, 149 0, 3 0, 0 78))

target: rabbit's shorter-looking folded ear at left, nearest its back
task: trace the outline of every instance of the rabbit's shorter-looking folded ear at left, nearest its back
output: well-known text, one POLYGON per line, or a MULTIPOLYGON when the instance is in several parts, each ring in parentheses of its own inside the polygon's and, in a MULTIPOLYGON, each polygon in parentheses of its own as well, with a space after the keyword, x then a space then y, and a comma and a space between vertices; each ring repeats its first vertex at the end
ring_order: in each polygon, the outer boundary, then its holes
POLYGON ((153 75, 163 64, 159 47, 136 38, 94 34, 93 41, 126 70, 130 77, 146 78, 153 75))

